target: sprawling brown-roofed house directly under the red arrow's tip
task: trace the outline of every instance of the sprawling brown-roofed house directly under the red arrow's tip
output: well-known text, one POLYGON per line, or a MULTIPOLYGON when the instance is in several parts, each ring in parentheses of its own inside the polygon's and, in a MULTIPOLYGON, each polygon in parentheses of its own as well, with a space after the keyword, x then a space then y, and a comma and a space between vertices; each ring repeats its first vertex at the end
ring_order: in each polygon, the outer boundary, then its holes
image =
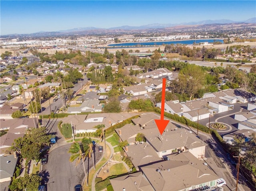
POLYGON ((135 141, 136 135, 138 133, 144 134, 146 143, 148 146, 154 148, 159 158, 174 154, 178 152, 178 150, 182 152, 189 151, 196 158, 204 157, 206 146, 204 142, 187 130, 178 129, 172 123, 168 123, 164 133, 160 135, 155 119, 159 119, 159 116, 150 113, 140 115, 140 118, 132 119, 135 125, 130 124, 129 126, 123 126, 122 128, 116 129, 116 133, 120 136, 122 141, 128 140, 129 145, 139 144, 135 141))

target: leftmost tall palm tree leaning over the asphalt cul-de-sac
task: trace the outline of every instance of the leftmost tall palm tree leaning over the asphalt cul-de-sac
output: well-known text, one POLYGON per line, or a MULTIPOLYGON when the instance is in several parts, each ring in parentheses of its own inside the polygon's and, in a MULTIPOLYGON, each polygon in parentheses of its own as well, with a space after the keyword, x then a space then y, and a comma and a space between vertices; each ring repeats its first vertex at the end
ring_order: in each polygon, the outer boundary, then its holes
MULTIPOLYGON (((79 143, 74 142, 69 151, 69 153, 72 153, 72 155, 69 158, 70 162, 73 162, 76 159, 76 166, 78 165, 78 163, 80 163, 80 160, 82 159, 83 162, 83 167, 84 167, 84 159, 85 159, 85 155, 81 149, 81 146, 79 143)), ((85 171, 85 167, 84 167, 84 175, 85 175, 85 180, 86 180, 86 171, 85 171)), ((88 186, 88 182, 86 181, 86 186, 88 186)))

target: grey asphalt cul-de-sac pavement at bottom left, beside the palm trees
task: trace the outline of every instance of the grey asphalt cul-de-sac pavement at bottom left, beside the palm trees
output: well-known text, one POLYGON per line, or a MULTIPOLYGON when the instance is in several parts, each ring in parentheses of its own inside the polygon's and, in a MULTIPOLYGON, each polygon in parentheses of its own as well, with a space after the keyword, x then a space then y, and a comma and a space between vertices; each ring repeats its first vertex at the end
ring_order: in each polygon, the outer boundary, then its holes
MULTIPOLYGON (((74 191, 77 184, 83 185, 84 168, 82 161, 76 165, 76 160, 70 163, 71 156, 68 153, 72 143, 59 143, 58 147, 49 153, 48 163, 42 166, 44 181, 47 184, 47 191, 74 191)), ((55 146, 55 145, 54 145, 55 146)), ((96 162, 102 157, 103 152, 98 152, 96 145, 96 162)), ((88 175, 88 158, 84 161, 88 175)), ((89 168, 93 167, 92 158, 89 160, 89 168)))

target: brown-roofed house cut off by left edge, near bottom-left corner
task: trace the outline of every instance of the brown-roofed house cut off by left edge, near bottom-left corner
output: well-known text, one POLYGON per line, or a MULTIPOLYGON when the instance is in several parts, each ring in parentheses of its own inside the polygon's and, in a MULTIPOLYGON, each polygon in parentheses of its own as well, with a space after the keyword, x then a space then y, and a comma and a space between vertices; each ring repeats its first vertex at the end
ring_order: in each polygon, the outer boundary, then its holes
POLYGON ((14 155, 0 156, 0 183, 12 181, 17 161, 14 155))

